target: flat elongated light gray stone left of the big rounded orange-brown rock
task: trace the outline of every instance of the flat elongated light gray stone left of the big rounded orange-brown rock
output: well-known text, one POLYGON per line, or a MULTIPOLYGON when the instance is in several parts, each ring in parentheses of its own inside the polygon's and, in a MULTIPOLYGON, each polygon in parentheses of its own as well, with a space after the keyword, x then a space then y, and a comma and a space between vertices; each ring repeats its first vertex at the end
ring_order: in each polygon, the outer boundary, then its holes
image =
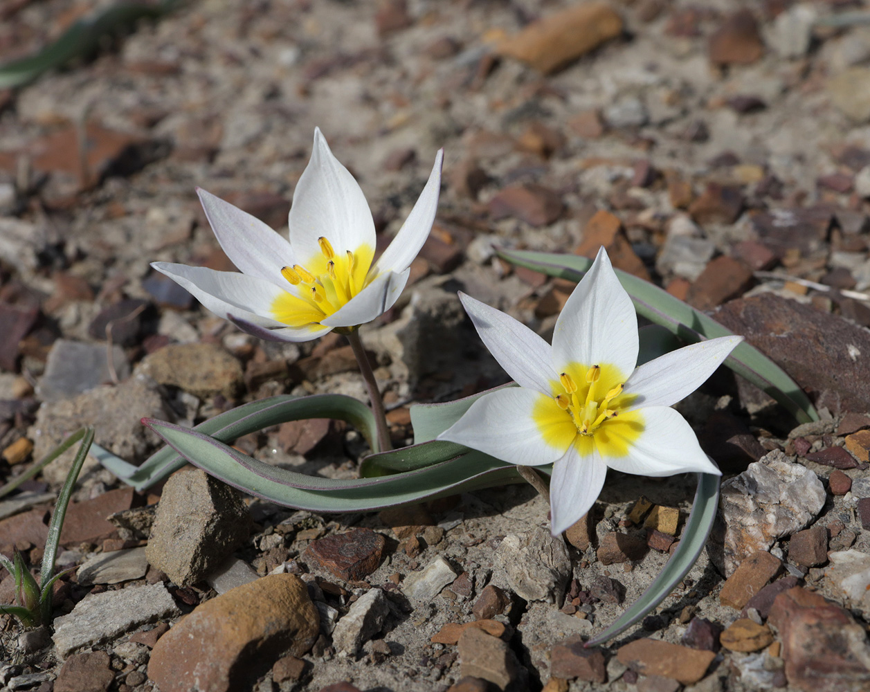
POLYGON ((76 649, 108 642, 148 622, 180 615, 163 583, 91 594, 69 615, 54 621, 57 653, 66 658, 76 649))

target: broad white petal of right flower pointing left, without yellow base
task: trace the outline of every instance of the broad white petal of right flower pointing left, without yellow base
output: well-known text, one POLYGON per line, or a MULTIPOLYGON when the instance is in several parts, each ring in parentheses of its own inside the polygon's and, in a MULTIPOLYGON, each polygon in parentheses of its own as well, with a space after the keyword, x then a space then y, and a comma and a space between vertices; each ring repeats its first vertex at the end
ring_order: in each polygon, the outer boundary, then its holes
POLYGON ((438 439, 458 442, 513 464, 541 466, 555 462, 565 454, 565 449, 547 444, 532 418, 540 396, 521 387, 498 389, 481 396, 438 439))

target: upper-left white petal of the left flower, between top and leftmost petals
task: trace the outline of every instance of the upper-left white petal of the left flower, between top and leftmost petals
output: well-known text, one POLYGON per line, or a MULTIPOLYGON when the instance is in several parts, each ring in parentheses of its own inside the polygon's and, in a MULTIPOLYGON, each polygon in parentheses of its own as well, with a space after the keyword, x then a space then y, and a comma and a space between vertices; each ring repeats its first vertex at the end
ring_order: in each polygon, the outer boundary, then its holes
POLYGON ((211 230, 240 271, 272 283, 283 283, 281 268, 294 264, 290 243, 258 218, 197 188, 211 230))

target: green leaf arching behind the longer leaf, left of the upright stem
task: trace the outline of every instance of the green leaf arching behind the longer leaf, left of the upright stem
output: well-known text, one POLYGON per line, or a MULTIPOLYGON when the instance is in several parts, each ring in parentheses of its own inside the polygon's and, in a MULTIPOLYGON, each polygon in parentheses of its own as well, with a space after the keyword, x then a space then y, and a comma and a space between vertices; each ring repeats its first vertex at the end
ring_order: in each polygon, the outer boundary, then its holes
MULTIPOLYGON (((378 433, 374 416, 365 403, 343 394, 318 394, 314 396, 270 396, 256 402, 246 403, 224 411, 194 430, 210 435, 222 442, 232 442, 238 437, 268 428, 271 425, 299 421, 305 418, 338 418, 351 423, 362 432, 372 449, 376 449, 378 433)), ((171 447, 160 449, 141 466, 113 455, 95 444, 91 454, 118 478, 137 490, 151 487, 184 466, 187 461, 171 447)))

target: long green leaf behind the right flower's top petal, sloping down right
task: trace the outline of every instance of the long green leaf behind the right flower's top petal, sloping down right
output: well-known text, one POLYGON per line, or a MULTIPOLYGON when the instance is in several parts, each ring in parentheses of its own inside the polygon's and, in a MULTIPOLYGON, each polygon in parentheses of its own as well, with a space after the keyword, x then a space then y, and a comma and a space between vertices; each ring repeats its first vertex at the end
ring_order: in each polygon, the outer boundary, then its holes
MULTIPOLYGON (((592 260, 576 255, 558 255, 549 252, 499 250, 499 256, 521 267, 535 269, 550 276, 579 281, 592 260)), ((650 322, 660 324, 687 343, 696 343, 714 336, 731 336, 733 332, 706 316, 700 310, 683 303, 667 291, 648 281, 616 269, 619 283, 632 297, 634 309, 650 322)), ((748 343, 740 343, 728 356, 725 364, 745 377, 768 396, 772 396, 799 423, 819 420, 813 403, 785 370, 748 343)))

